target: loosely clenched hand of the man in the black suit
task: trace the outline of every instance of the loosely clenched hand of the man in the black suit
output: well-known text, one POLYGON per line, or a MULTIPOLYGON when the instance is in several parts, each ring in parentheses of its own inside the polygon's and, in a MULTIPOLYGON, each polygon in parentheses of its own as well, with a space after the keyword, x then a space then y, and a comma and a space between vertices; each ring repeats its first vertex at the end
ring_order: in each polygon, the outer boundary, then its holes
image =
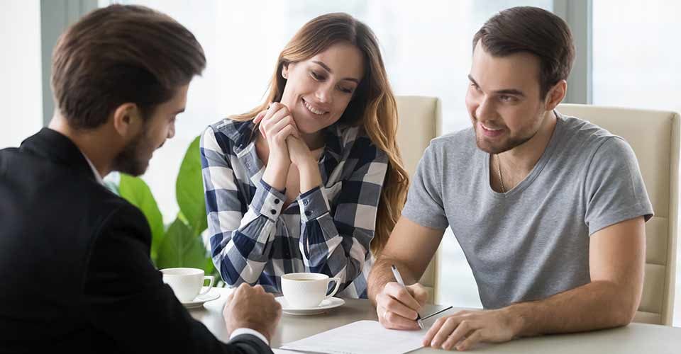
POLYGON ((243 283, 227 297, 223 316, 229 333, 238 328, 254 329, 271 341, 282 316, 282 305, 260 285, 243 283))

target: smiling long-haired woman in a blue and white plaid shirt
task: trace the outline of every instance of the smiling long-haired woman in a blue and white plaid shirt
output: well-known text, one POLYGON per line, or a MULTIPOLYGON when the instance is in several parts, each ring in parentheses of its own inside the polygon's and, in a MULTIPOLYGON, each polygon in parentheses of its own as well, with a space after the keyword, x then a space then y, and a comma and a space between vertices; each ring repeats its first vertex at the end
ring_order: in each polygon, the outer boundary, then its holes
POLYGON ((341 278, 341 296, 366 297, 409 183, 396 135, 370 28, 345 13, 306 23, 279 55, 267 100, 201 138, 223 280, 281 292, 281 275, 325 273, 341 278))

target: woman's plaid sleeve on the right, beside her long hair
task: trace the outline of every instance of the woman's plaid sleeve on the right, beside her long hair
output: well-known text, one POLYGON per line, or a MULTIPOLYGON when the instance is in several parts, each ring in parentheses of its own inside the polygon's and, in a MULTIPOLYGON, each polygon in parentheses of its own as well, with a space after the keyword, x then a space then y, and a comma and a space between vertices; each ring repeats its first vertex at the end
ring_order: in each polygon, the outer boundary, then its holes
POLYGON ((357 162, 341 181, 331 213, 326 190, 314 188, 298 198, 301 217, 300 251, 304 265, 314 273, 341 278, 339 291, 362 273, 375 234, 376 215, 387 172, 385 152, 369 139, 355 142, 345 166, 357 162), (354 161, 351 161, 354 160, 354 161))

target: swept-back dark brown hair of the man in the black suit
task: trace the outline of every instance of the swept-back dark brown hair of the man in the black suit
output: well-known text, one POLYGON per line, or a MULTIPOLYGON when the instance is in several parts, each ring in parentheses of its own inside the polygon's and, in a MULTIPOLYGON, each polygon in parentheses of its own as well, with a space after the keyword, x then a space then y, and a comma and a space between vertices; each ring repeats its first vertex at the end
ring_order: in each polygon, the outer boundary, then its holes
POLYGON ((111 5, 61 35, 52 55, 52 91, 70 126, 92 129, 128 102, 148 119, 205 67, 199 42, 170 16, 111 5))

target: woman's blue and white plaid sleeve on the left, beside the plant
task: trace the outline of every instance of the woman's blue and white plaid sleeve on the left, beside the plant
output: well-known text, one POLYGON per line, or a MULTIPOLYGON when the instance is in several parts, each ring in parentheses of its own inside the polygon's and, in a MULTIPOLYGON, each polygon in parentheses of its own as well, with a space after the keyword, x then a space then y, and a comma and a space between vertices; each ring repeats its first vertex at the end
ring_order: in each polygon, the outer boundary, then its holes
POLYGON ((255 285, 270 260, 284 192, 260 181, 247 204, 228 137, 212 127, 201 136, 200 154, 213 263, 229 286, 255 285))

